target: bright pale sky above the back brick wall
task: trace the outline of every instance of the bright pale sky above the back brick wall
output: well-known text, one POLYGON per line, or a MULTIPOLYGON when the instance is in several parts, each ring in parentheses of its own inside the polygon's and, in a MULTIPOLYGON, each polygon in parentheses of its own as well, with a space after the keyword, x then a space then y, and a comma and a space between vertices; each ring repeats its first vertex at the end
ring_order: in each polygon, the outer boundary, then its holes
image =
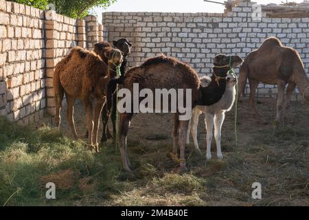
MULTIPOLYGON (((226 0, 214 0, 224 3, 226 0)), ((253 1, 253 0, 252 0, 253 1)), ((259 4, 281 3, 286 0, 255 0, 259 4)), ((297 3, 303 0, 288 0, 297 3)), ((225 6, 204 0, 117 0, 106 10, 95 9, 102 19, 102 12, 223 12, 225 6)))

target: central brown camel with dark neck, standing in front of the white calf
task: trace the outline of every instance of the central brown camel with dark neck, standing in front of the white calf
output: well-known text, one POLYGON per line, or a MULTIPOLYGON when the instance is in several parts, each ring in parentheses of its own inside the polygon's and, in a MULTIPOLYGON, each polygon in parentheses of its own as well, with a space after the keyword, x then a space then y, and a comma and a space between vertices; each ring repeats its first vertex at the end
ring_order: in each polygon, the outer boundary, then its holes
MULTIPOLYGON (((129 89, 131 94, 133 94, 133 84, 135 83, 139 85, 139 91, 141 89, 150 89, 153 93, 155 93, 156 89, 191 89, 192 103, 190 104, 191 107, 194 108, 198 103, 211 104, 218 102, 225 93, 226 77, 229 69, 240 65, 240 63, 242 63, 242 58, 239 56, 225 56, 223 54, 216 56, 214 58, 214 65, 216 66, 214 69, 216 69, 216 74, 214 74, 209 88, 205 88, 203 91, 200 89, 201 80, 192 67, 177 61, 175 58, 163 55, 150 58, 139 67, 133 67, 126 72, 122 80, 118 80, 118 82, 115 80, 115 82, 122 83, 122 89, 129 89), (230 67, 229 63, 231 64, 230 67), (200 100, 203 100, 203 102, 199 102, 200 100)), ((112 82, 113 80, 111 80, 111 83, 112 82)), ((132 103, 134 102, 133 96, 131 96, 132 103)), ((186 98, 184 96, 183 103, 185 103, 185 100, 186 98)), ((141 102, 141 99, 139 102, 141 102)), ((168 103, 165 104, 171 107, 172 99, 168 98, 168 103)), ((132 112, 121 113, 119 120, 118 143, 122 155, 122 166, 124 170, 128 171, 130 171, 131 164, 126 153, 126 136, 133 115, 134 113, 132 112)), ((177 108, 174 114, 173 153, 174 155, 177 154, 177 143, 179 143, 180 171, 182 171, 187 169, 185 164, 185 144, 187 126, 190 119, 179 120, 179 115, 181 115, 181 113, 177 108)))

